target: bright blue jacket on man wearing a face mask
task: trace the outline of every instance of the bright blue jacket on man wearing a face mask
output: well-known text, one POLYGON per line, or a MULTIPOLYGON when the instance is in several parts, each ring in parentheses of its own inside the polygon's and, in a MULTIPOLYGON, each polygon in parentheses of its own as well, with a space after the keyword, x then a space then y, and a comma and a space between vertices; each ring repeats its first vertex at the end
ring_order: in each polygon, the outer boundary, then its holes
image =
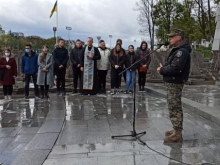
POLYGON ((21 72, 23 74, 36 74, 38 72, 38 55, 31 52, 31 56, 25 53, 21 59, 21 72))

